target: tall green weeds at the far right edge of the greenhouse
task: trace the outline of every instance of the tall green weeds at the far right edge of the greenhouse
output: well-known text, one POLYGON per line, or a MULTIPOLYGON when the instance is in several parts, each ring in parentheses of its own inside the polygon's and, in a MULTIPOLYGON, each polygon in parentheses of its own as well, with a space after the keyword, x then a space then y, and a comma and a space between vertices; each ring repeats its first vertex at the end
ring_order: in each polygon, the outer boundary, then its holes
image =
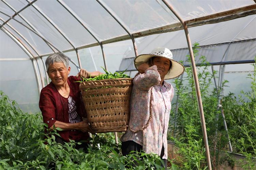
POLYGON ((246 157, 239 162, 243 169, 256 169, 256 64, 252 66, 254 72, 247 77, 251 80, 251 91, 241 91, 247 100, 239 95, 239 102, 236 102, 237 98, 231 93, 223 99, 234 151, 246 157))

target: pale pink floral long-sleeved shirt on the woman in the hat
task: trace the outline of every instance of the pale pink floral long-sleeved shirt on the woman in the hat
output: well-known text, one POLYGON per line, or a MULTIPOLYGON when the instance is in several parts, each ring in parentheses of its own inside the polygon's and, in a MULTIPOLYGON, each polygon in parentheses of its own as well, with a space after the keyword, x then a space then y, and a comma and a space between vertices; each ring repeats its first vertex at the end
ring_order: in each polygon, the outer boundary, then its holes
POLYGON ((174 89, 170 83, 160 85, 160 74, 154 65, 144 74, 133 80, 130 103, 129 126, 133 131, 141 129, 150 117, 150 94, 152 89, 152 119, 146 129, 133 133, 128 129, 121 141, 133 140, 142 146, 146 153, 161 154, 164 145, 163 159, 167 159, 167 130, 174 89))

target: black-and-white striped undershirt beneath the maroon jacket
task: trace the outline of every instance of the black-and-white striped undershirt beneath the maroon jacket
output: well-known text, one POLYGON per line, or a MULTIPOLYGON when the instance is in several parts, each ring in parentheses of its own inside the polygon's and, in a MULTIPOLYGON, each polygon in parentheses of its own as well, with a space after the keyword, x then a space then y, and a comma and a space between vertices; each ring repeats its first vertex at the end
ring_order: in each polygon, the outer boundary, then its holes
POLYGON ((70 123, 78 123, 81 122, 80 116, 76 112, 76 102, 73 100, 73 98, 69 97, 69 122, 70 123))

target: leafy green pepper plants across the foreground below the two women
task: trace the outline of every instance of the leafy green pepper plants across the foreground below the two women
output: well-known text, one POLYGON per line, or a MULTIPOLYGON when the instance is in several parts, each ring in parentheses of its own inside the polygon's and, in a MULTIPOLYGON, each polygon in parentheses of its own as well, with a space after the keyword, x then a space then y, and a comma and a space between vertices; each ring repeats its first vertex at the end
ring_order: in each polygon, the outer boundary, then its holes
POLYGON ((0 91, 0 170, 2 169, 163 169, 158 155, 134 153, 122 156, 112 133, 90 138, 87 152, 75 149, 79 142, 56 143, 55 129, 44 134, 40 113, 23 113, 0 91), (46 136, 46 138, 44 138, 46 136), (47 145, 46 145, 47 142, 47 145), (100 147, 98 146, 100 144, 100 147), (138 155, 143 159, 132 167, 138 155))

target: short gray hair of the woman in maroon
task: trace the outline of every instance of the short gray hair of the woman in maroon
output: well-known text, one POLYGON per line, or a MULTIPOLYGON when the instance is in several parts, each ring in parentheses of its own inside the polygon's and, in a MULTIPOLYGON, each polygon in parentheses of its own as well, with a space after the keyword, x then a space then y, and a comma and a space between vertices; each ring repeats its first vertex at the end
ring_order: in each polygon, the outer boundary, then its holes
POLYGON ((69 68, 69 59, 67 58, 66 55, 62 53, 55 53, 51 54, 46 58, 45 65, 46 65, 46 70, 48 73, 49 65, 52 65, 55 62, 62 62, 66 68, 69 68))

